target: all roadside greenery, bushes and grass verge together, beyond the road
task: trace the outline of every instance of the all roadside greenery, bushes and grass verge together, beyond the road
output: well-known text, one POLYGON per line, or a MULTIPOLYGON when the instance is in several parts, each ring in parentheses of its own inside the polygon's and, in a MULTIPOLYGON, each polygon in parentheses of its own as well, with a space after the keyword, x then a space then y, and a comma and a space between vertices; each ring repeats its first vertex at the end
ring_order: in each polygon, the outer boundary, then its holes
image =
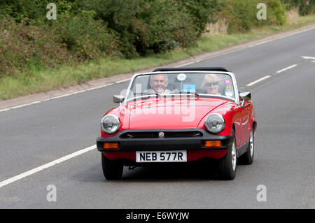
POLYGON ((57 20, 48 20, 50 2, 0 1, 0 100, 146 69, 315 22, 314 0, 308 6, 302 0, 56 0, 57 20), (267 5, 267 20, 256 18, 260 2, 267 5), (215 31, 218 24, 221 30, 215 31))

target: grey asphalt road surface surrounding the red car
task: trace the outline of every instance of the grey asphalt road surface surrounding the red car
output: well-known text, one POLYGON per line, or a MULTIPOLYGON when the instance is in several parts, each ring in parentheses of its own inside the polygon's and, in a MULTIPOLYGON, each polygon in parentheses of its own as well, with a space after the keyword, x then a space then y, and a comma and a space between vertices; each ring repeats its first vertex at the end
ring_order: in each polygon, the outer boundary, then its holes
POLYGON ((302 58, 315 57, 314 39, 311 29, 189 65, 225 66, 252 93, 255 159, 237 166, 235 180, 190 167, 125 168, 122 180, 107 181, 96 149, 12 180, 94 145, 123 82, 0 112, 0 208, 315 208, 315 59, 302 58), (266 201, 257 199, 259 185, 266 201))

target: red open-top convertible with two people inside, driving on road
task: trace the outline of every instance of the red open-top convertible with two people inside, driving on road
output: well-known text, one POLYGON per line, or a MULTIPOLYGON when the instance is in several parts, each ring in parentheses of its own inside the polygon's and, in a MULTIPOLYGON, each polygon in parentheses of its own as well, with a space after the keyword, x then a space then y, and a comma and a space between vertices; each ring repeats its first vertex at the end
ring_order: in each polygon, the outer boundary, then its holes
POLYGON ((223 180, 251 164, 257 122, 250 92, 221 67, 161 68, 133 75, 120 106, 101 121, 97 149, 108 180, 123 166, 216 159, 223 180))

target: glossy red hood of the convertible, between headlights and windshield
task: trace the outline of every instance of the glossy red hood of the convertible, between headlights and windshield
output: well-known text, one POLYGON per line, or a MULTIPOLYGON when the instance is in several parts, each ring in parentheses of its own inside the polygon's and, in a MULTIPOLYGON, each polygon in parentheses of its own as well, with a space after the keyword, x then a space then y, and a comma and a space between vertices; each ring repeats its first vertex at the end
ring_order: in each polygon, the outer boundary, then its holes
POLYGON ((211 98, 160 98, 129 103, 130 129, 197 128, 202 117, 226 103, 211 98))

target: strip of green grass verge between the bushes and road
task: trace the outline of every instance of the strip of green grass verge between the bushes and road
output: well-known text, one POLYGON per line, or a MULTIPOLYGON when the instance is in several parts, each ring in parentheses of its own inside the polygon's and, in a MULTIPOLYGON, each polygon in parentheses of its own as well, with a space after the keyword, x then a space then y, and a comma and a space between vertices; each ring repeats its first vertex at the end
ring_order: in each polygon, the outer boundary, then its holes
POLYGON ((176 49, 172 52, 134 59, 100 59, 94 62, 69 64, 60 69, 45 69, 34 66, 28 72, 16 72, 15 77, 3 77, 0 80, 0 100, 13 99, 27 94, 48 92, 52 89, 78 85, 92 79, 106 78, 118 73, 129 73, 176 62, 203 52, 213 52, 239 43, 246 43, 258 38, 297 29, 307 24, 315 24, 315 14, 297 17, 283 26, 267 26, 251 29, 241 34, 207 35, 200 38, 197 46, 186 50, 176 49))

